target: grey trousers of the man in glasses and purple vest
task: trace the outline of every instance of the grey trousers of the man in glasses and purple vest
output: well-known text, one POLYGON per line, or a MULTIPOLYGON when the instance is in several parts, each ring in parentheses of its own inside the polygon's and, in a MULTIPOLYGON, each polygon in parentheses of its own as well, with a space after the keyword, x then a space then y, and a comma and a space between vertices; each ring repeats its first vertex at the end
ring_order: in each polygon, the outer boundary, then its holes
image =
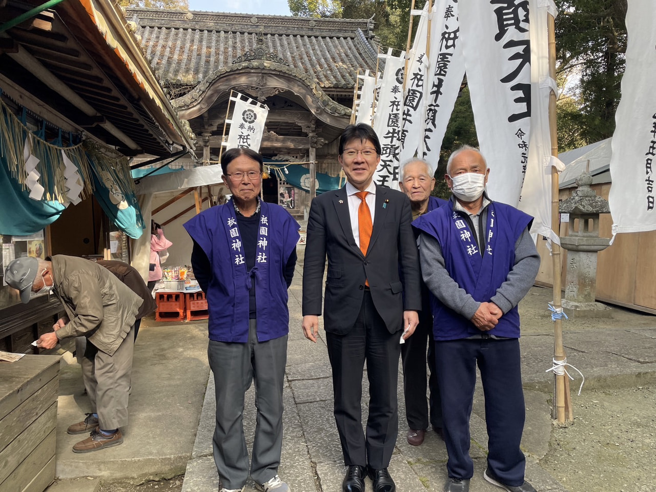
POLYGON ((243 430, 244 394, 255 381, 255 441, 251 478, 264 483, 276 476, 283 443, 283 386, 287 335, 258 342, 256 320, 249 320, 247 343, 209 340, 207 358, 216 386, 214 461, 223 487, 241 489, 249 476, 243 430))

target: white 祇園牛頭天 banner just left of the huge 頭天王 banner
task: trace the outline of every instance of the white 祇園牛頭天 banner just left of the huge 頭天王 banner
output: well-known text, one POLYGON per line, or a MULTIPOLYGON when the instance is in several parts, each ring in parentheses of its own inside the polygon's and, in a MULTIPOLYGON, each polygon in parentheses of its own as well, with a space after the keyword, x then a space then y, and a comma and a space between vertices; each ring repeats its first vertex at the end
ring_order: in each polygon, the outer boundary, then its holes
POLYGON ((458 0, 436 0, 430 26, 430 72, 426 81, 424 135, 418 155, 438 167, 440 149, 464 77, 458 0))

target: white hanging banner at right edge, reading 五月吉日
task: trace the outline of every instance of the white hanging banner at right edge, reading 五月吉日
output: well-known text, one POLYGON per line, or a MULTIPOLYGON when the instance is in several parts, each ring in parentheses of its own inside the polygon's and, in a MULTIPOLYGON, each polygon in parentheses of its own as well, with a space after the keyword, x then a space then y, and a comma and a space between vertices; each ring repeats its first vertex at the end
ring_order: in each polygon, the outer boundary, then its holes
POLYGON ((628 0, 626 69, 611 146, 613 239, 656 229, 656 10, 653 0, 628 0))

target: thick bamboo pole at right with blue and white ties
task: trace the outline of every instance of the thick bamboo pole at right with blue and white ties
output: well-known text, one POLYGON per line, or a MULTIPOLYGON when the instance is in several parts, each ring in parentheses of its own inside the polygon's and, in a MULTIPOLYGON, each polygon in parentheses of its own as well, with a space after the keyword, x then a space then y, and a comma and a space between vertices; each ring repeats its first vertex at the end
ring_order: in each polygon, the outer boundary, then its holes
MULTIPOLYGON (((547 14, 548 44, 549 44, 549 76, 556 80, 556 33, 555 20, 551 14, 547 14)), ((556 126, 556 93, 551 91, 549 94, 549 130, 551 134, 551 155, 558 157, 558 131, 556 126)), ((558 171, 555 167, 551 168, 551 228, 560 235, 559 220, 559 180, 558 171)), ((552 244, 552 264, 554 270, 554 308, 562 310, 562 268, 560 258, 560 245, 552 244)), ((554 359, 556 361, 565 360, 565 349, 563 346, 563 329, 562 320, 554 320, 554 359)), ((568 414, 569 420, 572 420, 571 398, 569 395, 569 381, 567 375, 556 374, 554 371, 554 407, 556 409, 556 419, 559 423, 565 423, 565 413, 568 414)))

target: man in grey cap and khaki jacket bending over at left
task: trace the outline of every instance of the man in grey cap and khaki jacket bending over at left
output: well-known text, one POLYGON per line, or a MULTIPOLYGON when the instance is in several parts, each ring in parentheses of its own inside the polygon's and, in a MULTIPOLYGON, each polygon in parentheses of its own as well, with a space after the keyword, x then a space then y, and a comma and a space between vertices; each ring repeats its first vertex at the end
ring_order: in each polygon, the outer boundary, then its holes
POLYGON ((49 349, 63 338, 87 337, 82 377, 91 413, 68 433, 91 435, 73 451, 89 453, 121 444, 121 427, 128 422, 133 325, 142 298, 106 268, 75 256, 18 258, 7 266, 5 281, 20 291, 25 304, 31 293, 51 292, 66 310, 67 316, 58 319, 53 331, 39 337, 37 347, 49 349))

